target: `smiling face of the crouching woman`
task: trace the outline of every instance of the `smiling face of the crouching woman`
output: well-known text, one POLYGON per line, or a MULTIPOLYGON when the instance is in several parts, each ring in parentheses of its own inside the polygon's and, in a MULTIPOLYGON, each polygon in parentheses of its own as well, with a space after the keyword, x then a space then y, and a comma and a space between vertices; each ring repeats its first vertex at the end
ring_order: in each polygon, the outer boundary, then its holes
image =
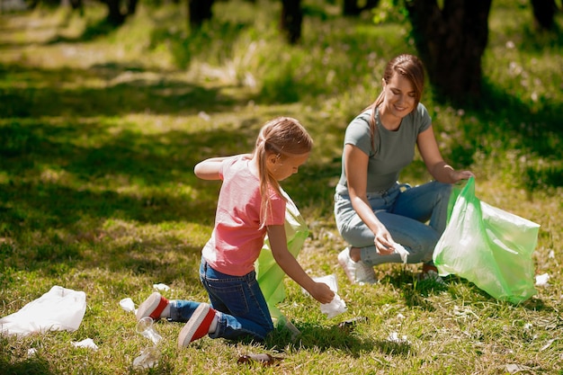
POLYGON ((389 82, 383 80, 383 91, 385 99, 380 107, 382 117, 387 117, 391 122, 400 122, 415 109, 415 87, 405 76, 395 73, 389 82))

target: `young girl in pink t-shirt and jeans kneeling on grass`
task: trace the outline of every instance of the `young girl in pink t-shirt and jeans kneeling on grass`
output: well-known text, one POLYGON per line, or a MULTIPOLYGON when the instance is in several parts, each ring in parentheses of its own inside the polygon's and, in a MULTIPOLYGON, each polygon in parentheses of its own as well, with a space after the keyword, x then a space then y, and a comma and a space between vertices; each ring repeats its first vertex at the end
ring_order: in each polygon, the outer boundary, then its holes
POLYGON ((264 340, 273 321, 255 278, 254 264, 267 233, 273 257, 281 269, 320 303, 335 293, 313 281, 287 247, 284 220, 286 200, 279 182, 298 172, 308 159, 313 141, 295 119, 267 122, 256 139, 254 153, 212 157, 195 165, 203 180, 223 180, 215 228, 203 247, 200 279, 210 304, 167 300, 153 293, 140 306, 137 319, 165 317, 187 322, 178 347, 204 335, 234 339, 251 335, 264 340))

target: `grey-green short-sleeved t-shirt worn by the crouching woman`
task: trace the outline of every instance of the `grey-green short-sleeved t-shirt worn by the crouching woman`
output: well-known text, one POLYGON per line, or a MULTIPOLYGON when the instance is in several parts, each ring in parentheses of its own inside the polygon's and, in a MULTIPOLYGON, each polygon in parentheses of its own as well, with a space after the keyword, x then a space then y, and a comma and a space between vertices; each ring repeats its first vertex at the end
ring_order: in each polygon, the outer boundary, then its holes
MULTIPOLYGON (((396 131, 385 129, 381 125, 379 110, 376 112, 377 130, 371 144, 371 111, 362 112, 346 128, 344 146, 359 147, 370 157, 368 161, 368 186, 366 192, 387 191, 398 181, 401 170, 415 157, 415 145, 418 134, 432 125, 432 119, 422 103, 416 111, 410 112, 401 121, 396 131)), ((344 153, 342 156, 342 174, 336 185, 336 192, 348 194, 344 172, 344 153)))

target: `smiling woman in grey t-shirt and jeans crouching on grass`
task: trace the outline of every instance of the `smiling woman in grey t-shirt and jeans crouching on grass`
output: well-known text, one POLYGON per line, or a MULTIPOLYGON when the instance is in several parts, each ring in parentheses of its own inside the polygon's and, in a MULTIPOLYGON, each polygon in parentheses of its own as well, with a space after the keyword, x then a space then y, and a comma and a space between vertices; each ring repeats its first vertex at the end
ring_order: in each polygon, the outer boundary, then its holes
POLYGON ((349 246, 338 263, 350 281, 374 283, 374 265, 401 262, 399 244, 408 263, 424 263, 423 277, 441 281, 432 254, 446 225, 451 183, 473 174, 454 170, 440 154, 420 103, 424 66, 418 58, 391 59, 382 85, 376 101, 345 132, 335 220, 349 246), (398 175, 413 161, 415 145, 435 181, 410 188, 398 183, 398 175))

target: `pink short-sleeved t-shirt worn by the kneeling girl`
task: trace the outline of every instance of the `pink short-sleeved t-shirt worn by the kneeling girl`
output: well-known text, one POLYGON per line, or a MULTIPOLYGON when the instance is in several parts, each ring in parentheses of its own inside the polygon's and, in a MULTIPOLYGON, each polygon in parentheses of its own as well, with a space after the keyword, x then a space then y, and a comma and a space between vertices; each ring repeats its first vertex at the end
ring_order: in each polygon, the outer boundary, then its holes
MULTIPOLYGON (((250 173, 248 159, 226 159, 219 170, 223 180, 219 192, 215 228, 203 247, 203 257, 219 272, 243 276, 255 269, 264 246, 266 228, 260 228, 260 180, 250 173)), ((266 226, 283 225, 285 201, 273 190, 266 226)))

